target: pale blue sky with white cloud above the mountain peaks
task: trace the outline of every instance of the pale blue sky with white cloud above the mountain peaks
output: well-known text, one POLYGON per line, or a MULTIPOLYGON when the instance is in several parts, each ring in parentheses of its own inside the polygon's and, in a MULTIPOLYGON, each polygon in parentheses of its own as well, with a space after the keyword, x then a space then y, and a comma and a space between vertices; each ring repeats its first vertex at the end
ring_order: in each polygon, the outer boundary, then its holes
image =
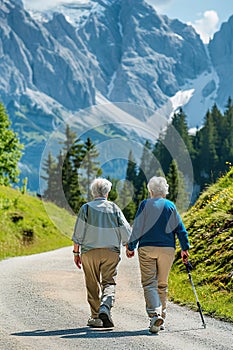
MULTIPOLYGON (((146 0, 160 14, 193 25, 204 42, 233 15, 232 0, 146 0)), ((27 8, 45 9, 61 2, 86 3, 88 0, 23 0, 27 8)))

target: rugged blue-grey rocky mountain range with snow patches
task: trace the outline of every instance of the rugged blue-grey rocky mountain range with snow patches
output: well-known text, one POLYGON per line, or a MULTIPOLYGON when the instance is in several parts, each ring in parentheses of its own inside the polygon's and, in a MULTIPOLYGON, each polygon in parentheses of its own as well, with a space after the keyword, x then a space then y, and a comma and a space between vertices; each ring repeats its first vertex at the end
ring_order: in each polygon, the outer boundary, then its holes
POLYGON ((206 47, 191 26, 144 0, 93 0, 47 13, 0 0, 0 100, 26 146, 21 167, 30 188, 38 188, 49 136, 67 122, 102 141, 112 133, 154 141, 184 106, 189 126, 200 126, 215 101, 223 107, 233 95, 232 26, 230 18, 206 47))

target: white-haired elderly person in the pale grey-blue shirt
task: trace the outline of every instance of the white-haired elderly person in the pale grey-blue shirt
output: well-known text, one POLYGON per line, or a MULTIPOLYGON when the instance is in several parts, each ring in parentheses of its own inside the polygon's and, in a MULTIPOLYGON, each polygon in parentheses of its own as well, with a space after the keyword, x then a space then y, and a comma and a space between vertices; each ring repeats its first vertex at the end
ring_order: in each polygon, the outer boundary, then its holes
POLYGON ((120 208, 107 200, 111 182, 98 178, 91 184, 94 200, 78 213, 72 240, 74 262, 83 266, 91 327, 113 327, 111 308, 115 301, 120 246, 128 243, 131 229, 120 208), (100 286, 102 290, 99 296, 100 286))

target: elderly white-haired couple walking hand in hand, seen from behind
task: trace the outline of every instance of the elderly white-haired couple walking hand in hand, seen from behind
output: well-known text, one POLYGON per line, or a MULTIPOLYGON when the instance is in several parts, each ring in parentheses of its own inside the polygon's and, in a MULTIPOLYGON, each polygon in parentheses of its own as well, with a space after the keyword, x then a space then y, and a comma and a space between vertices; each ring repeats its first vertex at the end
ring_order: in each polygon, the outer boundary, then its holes
POLYGON ((120 208, 108 201, 111 186, 111 182, 103 178, 92 182, 94 200, 80 208, 72 237, 74 262, 79 269, 83 266, 91 309, 87 325, 114 327, 111 308, 122 244, 128 258, 134 256, 138 246, 149 331, 158 333, 164 329, 168 276, 175 257, 176 235, 185 263, 189 255, 188 233, 175 205, 166 199, 168 184, 164 177, 154 176, 149 180, 150 199, 140 203, 132 230, 120 208))

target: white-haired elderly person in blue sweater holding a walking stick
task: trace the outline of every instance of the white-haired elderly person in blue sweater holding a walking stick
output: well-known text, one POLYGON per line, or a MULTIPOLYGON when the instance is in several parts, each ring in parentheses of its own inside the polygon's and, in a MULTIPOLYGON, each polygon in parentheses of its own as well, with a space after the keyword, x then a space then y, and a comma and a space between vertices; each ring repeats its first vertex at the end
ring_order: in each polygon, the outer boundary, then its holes
POLYGON ((164 329, 168 276, 175 257, 176 235, 183 262, 187 262, 189 242, 175 205, 165 198, 168 194, 166 179, 154 176, 147 188, 150 199, 140 203, 126 254, 132 257, 138 244, 141 282, 150 318, 149 330, 157 333, 164 329))

